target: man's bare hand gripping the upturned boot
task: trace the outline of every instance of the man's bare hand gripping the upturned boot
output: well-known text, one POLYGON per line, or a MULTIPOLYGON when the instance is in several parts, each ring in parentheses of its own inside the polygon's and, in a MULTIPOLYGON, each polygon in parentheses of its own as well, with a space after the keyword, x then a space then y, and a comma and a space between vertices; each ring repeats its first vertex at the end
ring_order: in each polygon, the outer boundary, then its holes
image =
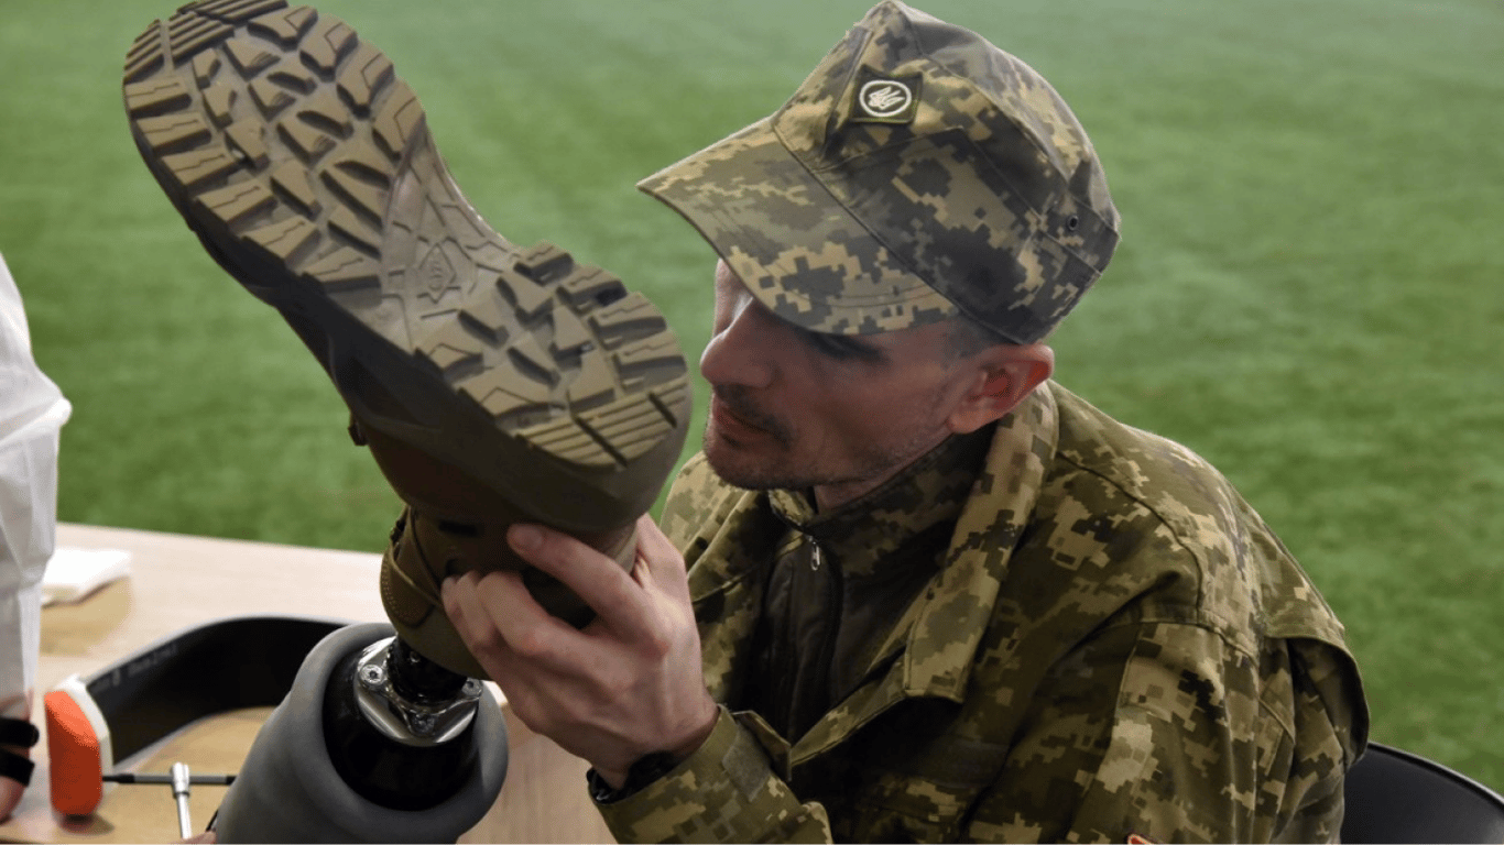
POLYGON ((684 558, 647 516, 630 573, 585 543, 514 525, 511 547, 591 607, 582 630, 549 615, 516 573, 444 582, 444 609, 522 722, 587 759, 614 788, 654 752, 684 758, 716 723, 684 558))

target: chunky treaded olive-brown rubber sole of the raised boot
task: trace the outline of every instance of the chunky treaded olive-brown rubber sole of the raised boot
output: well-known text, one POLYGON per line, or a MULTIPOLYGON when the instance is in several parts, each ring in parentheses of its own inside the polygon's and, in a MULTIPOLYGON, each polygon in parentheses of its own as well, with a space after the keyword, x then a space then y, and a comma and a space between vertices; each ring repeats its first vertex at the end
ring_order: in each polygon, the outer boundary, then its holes
POLYGON ((492 232, 417 96, 344 23, 286 0, 191 3, 131 47, 123 96, 153 174, 262 299, 331 302, 581 468, 681 435, 687 368, 659 310, 552 244, 492 232))

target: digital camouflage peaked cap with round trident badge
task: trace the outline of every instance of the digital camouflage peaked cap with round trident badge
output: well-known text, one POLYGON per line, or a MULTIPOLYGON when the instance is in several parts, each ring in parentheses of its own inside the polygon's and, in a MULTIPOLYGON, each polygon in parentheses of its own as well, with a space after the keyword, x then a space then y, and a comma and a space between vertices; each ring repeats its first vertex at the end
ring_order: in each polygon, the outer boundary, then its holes
POLYGON ((875 334, 969 314, 1044 338, 1101 275, 1117 210, 1032 68, 878 3, 773 116, 638 185, 779 317, 875 334))

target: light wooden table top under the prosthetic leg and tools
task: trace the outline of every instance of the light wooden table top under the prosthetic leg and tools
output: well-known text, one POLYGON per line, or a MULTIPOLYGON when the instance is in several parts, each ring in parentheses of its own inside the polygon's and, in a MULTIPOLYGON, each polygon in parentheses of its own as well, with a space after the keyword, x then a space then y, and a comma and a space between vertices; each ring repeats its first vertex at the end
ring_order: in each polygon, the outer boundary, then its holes
MULTIPOLYGON (((48 801, 47 725, 41 696, 72 674, 89 672, 182 628, 247 613, 293 613, 349 621, 385 621, 376 588, 379 555, 244 543, 179 534, 59 525, 57 546, 131 552, 129 577, 77 604, 42 610, 33 722, 44 731, 33 749, 36 773, 21 806, 0 824, 0 842, 171 842, 177 815, 167 786, 107 786, 95 815, 63 818, 48 801)), ((507 717, 507 782, 466 843, 611 842, 585 792, 584 761, 511 716, 507 717)), ((128 761, 123 771, 165 773, 173 762, 193 771, 233 773, 271 708, 238 710, 179 731, 128 761)), ((221 786, 194 786, 193 821, 202 830, 221 786)))

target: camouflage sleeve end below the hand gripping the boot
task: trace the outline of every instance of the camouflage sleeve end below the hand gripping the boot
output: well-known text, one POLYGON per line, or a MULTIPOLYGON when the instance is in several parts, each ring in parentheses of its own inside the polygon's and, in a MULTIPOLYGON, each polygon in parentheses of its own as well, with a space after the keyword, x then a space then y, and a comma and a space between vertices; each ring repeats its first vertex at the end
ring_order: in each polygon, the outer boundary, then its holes
POLYGON ((689 759, 596 807, 618 842, 830 842, 824 807, 799 803, 726 708, 689 759))

